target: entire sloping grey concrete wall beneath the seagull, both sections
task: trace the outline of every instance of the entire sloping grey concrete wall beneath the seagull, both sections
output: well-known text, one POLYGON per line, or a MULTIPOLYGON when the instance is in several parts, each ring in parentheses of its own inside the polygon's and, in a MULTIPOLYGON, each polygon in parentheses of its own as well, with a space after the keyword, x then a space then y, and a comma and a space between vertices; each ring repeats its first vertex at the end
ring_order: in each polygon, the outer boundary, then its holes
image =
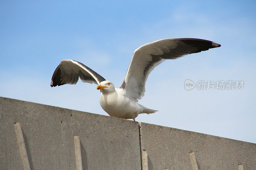
POLYGON ((253 143, 2 97, 0 169, 23 169, 15 122, 31 169, 76 169, 74 136, 83 169, 192 169, 190 152, 198 169, 256 169, 253 143))

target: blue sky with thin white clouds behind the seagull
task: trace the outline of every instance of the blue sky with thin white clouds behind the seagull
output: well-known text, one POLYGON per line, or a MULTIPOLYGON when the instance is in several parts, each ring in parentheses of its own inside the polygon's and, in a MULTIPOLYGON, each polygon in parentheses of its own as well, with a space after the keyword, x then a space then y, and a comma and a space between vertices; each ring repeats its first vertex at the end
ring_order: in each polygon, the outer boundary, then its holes
POLYGON ((255 1, 0 1, 0 96, 107 115, 95 84, 50 87, 61 60, 119 87, 141 45, 206 39, 222 46, 152 71, 139 103, 159 112, 136 121, 256 143, 255 11, 255 1), (186 79, 244 80, 244 88, 186 91, 186 79))

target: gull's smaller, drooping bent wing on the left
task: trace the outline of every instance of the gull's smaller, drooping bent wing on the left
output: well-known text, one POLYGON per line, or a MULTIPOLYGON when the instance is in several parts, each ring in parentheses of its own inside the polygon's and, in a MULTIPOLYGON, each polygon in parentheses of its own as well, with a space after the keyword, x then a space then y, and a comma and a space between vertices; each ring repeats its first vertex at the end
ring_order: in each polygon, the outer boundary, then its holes
POLYGON ((105 80, 105 78, 82 63, 74 60, 62 60, 52 75, 51 87, 65 84, 75 85, 78 77, 82 82, 98 85, 105 80))

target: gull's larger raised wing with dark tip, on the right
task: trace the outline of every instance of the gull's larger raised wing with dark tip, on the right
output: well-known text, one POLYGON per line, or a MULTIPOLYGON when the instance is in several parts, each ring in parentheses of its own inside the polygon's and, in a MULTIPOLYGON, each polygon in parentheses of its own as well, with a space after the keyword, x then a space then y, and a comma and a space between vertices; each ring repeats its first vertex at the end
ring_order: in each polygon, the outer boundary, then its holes
POLYGON ((167 59, 177 59, 192 53, 199 53, 220 44, 194 38, 163 39, 137 48, 120 88, 133 100, 144 96, 149 73, 167 59))

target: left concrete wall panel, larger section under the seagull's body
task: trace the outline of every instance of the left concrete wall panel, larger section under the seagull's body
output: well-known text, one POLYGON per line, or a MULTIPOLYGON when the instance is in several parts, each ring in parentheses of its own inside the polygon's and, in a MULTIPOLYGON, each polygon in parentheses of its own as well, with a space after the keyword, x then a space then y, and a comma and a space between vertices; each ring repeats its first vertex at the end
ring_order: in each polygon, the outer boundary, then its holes
POLYGON ((138 122, 0 97, 0 169, 23 169, 14 123, 20 122, 31 169, 140 169, 138 122))

